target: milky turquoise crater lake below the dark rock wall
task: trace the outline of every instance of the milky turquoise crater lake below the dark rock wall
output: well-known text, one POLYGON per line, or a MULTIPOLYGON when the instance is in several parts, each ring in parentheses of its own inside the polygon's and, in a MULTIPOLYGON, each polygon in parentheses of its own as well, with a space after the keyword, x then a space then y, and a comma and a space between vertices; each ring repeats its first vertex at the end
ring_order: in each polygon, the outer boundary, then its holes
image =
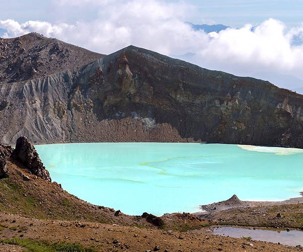
POLYGON ((230 198, 285 200, 303 191, 303 150, 184 143, 35 146, 53 181, 126 214, 195 212, 230 198))

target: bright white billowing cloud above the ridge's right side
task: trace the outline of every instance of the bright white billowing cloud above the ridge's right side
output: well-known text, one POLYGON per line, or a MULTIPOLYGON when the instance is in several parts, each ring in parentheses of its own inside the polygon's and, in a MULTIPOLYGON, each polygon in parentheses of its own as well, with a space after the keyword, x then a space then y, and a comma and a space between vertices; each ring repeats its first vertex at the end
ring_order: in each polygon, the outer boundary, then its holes
MULTIPOLYGON (((303 27, 303 26, 302 26, 303 27)), ((195 58, 197 63, 243 75, 258 71, 276 71, 303 77, 303 46, 293 46, 294 31, 286 31, 280 21, 269 19, 252 29, 221 31, 201 48, 195 58)))

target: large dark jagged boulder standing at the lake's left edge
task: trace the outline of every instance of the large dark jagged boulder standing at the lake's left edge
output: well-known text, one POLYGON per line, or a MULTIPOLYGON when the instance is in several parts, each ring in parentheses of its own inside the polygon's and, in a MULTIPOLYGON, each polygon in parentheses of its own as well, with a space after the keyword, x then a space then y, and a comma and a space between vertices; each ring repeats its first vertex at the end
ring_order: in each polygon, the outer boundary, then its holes
POLYGON ((22 163, 32 174, 42 177, 46 181, 52 181, 51 176, 49 176, 48 171, 43 166, 35 147, 27 137, 18 138, 16 147, 12 153, 12 158, 22 163))

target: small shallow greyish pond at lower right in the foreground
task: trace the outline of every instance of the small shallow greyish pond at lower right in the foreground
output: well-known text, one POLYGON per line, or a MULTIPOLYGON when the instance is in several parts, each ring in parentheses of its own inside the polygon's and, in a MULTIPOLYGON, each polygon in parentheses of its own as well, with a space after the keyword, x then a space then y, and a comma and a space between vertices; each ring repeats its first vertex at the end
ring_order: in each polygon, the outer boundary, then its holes
POLYGON ((303 231, 280 229, 248 229, 240 227, 216 227, 214 234, 234 238, 251 237, 252 240, 261 240, 289 246, 303 245, 303 231))

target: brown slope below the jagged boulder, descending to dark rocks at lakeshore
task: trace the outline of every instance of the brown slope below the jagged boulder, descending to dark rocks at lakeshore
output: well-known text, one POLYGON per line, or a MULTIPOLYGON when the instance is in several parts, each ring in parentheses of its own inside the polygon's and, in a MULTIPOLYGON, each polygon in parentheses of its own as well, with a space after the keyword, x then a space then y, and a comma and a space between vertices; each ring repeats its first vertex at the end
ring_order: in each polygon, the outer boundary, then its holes
POLYGON ((86 220, 102 223, 144 225, 136 217, 89 204, 67 193, 56 182, 29 174, 20 163, 8 162, 10 175, 0 180, 0 209, 39 219, 86 220))

